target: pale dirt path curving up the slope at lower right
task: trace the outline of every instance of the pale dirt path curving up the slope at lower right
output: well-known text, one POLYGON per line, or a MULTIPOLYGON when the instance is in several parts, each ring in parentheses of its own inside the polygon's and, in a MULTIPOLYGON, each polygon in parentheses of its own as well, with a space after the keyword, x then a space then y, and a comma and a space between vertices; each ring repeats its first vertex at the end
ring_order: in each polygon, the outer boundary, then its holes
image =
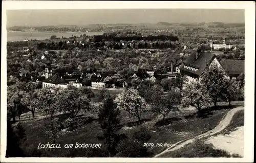
POLYGON ((193 143, 194 141, 196 141, 196 139, 200 139, 200 138, 203 138, 203 137, 207 137, 207 136, 210 136, 210 135, 214 135, 214 134, 216 134, 216 133, 219 133, 220 131, 222 131, 223 129, 225 129, 225 128, 229 125, 229 123, 230 123, 230 121, 231 121, 231 119, 232 119, 234 113, 236 113, 236 112, 239 111, 239 110, 243 110, 243 109, 244 109, 244 107, 243 107, 243 106, 240 106, 240 107, 237 107, 237 108, 234 108, 234 109, 228 111, 227 114, 226 114, 226 116, 225 116, 225 118, 222 119, 222 120, 220 121, 219 125, 216 126, 214 129, 209 130, 209 131, 207 131, 207 132, 205 132, 205 133, 203 133, 203 134, 201 134, 201 135, 195 136, 195 137, 193 137, 193 138, 188 138, 188 139, 185 139, 185 140, 183 140, 183 141, 177 142, 177 143, 175 144, 175 146, 167 148, 167 149, 164 150, 163 152, 161 152, 161 153, 155 155, 154 157, 159 157, 159 156, 161 156, 161 155, 164 154, 164 153, 167 153, 167 152, 170 152, 170 151, 178 150, 178 149, 182 148, 183 146, 185 146, 185 145, 187 145, 187 144, 189 144, 189 143, 193 143))

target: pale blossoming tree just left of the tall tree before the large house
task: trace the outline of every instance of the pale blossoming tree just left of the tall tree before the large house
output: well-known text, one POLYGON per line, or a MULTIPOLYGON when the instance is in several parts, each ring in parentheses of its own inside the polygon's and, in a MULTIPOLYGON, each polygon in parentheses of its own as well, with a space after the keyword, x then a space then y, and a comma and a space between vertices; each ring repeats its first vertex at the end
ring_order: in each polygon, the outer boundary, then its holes
POLYGON ((183 106, 194 106, 199 112, 203 106, 209 105, 211 98, 204 85, 199 82, 186 84, 181 104, 183 106))

